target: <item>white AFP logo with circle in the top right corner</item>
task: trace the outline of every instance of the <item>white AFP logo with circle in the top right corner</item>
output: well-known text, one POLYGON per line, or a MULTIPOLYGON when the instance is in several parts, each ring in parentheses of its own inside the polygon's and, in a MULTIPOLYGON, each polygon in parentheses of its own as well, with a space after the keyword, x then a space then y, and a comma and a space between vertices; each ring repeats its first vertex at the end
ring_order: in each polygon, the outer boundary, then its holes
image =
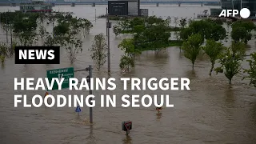
MULTIPOLYGON (((222 10, 221 14, 218 15, 218 17, 235 17, 239 14, 239 10, 222 10)), ((247 8, 242 8, 240 10, 240 16, 241 18, 249 18, 250 17, 250 10, 247 8)))

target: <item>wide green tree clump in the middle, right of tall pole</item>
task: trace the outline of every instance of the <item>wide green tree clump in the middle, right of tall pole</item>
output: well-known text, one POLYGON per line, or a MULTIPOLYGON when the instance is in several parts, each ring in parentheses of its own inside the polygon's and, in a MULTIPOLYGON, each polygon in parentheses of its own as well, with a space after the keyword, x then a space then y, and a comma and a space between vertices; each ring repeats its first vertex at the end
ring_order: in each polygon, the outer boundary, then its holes
POLYGON ((122 34, 133 34, 133 38, 123 39, 118 45, 119 48, 125 51, 126 55, 126 57, 121 59, 123 62, 121 62, 122 64, 120 66, 124 66, 123 63, 130 62, 130 59, 134 62, 135 54, 141 54, 143 50, 154 50, 158 52, 177 43, 180 45, 181 42, 179 41, 172 42, 169 40, 170 31, 174 30, 174 28, 170 27, 170 21, 170 18, 163 20, 162 18, 153 16, 126 19, 118 22, 118 25, 114 26, 114 33, 116 35, 119 32, 122 34))

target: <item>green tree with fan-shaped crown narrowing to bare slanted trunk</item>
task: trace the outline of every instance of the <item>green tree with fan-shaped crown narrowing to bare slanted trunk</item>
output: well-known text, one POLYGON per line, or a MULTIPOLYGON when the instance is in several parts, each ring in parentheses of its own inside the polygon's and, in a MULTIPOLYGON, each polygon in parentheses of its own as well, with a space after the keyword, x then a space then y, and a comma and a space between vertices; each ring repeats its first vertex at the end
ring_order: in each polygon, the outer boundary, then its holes
POLYGON ((204 50, 210 58, 211 67, 209 75, 211 75, 214 70, 214 64, 224 49, 225 47, 222 46, 221 42, 216 42, 214 40, 207 40, 206 46, 202 46, 202 50, 204 50))

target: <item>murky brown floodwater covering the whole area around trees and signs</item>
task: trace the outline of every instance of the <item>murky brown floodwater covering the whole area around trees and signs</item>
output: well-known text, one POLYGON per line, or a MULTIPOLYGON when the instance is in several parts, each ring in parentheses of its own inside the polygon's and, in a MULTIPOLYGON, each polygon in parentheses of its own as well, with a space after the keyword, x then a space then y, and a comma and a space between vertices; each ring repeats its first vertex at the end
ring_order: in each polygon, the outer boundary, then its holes
MULTIPOLYGON (((209 7, 201 6, 142 6, 149 9, 149 14, 157 16, 174 16, 194 18, 209 7)), ((18 7, 1 7, 1 11, 14 10, 18 7)), ((59 6, 54 10, 73 11, 78 17, 94 21, 97 15, 106 13, 106 6, 59 6)), ((83 39, 83 51, 79 54, 74 69, 83 69, 93 64, 88 48, 94 35, 106 34, 106 19, 93 22, 90 35, 83 39)), ((86 124, 89 119, 89 108, 83 107, 80 117, 74 108, 14 108, 14 78, 44 77, 46 70, 69 67, 68 58, 62 50, 60 65, 15 65, 14 58, 6 60, 0 69, 0 143, 2 144, 57 144, 57 143, 99 143, 99 144, 201 144, 201 143, 256 143, 256 90, 242 81, 243 74, 238 74, 230 86, 223 74, 211 77, 208 75, 210 61, 200 56, 194 70, 178 47, 170 47, 155 55, 144 52, 136 58, 136 66, 129 74, 120 73, 119 60, 122 50, 118 43, 126 35, 115 38, 110 30, 111 77, 137 78, 190 78, 190 91, 93 91, 96 95, 94 107, 94 125, 86 124), (174 108, 163 108, 157 114, 155 107, 150 108, 115 108, 100 107, 100 94, 170 94, 170 103, 174 108), (130 120, 133 130, 129 136, 122 131, 121 123, 130 120)), ((5 36, 1 35, 1 41, 5 36)), ((249 42, 248 53, 256 50, 255 41, 249 42)), ((243 66, 247 67, 244 62, 243 66)), ((102 72, 94 71, 94 77, 107 77, 107 66, 102 72)), ((75 77, 86 77, 87 72, 75 73, 75 77)), ((122 86, 122 83, 118 83, 122 86)), ((45 94, 45 91, 20 91, 28 97, 34 94, 45 94)), ((53 91, 52 94, 88 94, 87 91, 53 91)), ((31 99, 29 100, 29 103, 31 99)), ((121 99, 118 99, 120 104, 121 99)))

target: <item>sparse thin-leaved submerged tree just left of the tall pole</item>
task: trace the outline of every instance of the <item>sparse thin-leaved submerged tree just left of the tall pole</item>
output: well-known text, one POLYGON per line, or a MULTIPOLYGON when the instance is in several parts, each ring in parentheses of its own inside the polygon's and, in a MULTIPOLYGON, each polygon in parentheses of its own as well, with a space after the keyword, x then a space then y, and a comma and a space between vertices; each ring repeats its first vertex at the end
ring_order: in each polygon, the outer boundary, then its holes
POLYGON ((90 58, 94 60, 97 70, 101 70, 106 62, 107 51, 106 39, 103 34, 95 35, 94 43, 91 46, 90 51, 92 52, 90 58))

